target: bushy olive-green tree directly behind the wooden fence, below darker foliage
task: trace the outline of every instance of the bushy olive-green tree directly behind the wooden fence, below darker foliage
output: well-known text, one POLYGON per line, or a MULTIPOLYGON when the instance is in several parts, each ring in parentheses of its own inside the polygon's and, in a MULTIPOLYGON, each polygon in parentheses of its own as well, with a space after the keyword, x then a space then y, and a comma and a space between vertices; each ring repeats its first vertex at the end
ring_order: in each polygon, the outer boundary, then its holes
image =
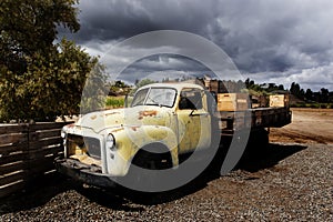
MULTIPOLYGON (((91 85, 89 97, 101 94, 97 91, 101 90, 104 77, 98 59, 67 40, 62 40, 58 47, 60 52, 52 57, 28 59, 29 65, 24 73, 8 72, 8 77, 0 80, 2 120, 52 121, 59 115, 80 112, 84 87, 91 85), (85 82, 89 75, 90 81, 85 82)), ((98 107, 98 101, 91 100, 90 107, 98 107)))

